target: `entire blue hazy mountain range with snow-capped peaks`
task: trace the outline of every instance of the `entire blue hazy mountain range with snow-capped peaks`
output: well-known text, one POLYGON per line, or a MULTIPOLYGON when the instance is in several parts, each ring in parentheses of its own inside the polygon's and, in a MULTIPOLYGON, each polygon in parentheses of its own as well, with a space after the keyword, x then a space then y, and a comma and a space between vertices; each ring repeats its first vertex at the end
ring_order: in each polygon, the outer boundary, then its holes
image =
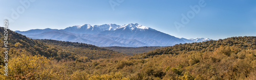
POLYGON ((210 39, 177 38, 152 28, 130 23, 124 25, 75 25, 66 29, 36 29, 29 31, 15 31, 32 39, 53 39, 60 41, 81 42, 96 46, 172 46, 179 43, 202 42, 210 39))

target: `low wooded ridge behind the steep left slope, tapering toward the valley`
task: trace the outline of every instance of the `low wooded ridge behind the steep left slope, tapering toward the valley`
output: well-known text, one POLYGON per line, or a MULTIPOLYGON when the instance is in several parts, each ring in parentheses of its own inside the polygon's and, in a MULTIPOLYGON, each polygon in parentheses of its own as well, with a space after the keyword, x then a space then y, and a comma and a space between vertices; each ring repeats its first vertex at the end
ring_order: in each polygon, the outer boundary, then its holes
POLYGON ((57 40, 49 40, 49 39, 37 39, 37 40, 40 42, 44 42, 47 45, 51 45, 52 47, 56 47, 63 51, 64 50, 67 51, 63 53, 77 55, 78 57, 88 57, 90 59, 100 59, 100 58, 104 59, 104 58, 128 56, 117 51, 101 48, 91 44, 57 41, 57 40))

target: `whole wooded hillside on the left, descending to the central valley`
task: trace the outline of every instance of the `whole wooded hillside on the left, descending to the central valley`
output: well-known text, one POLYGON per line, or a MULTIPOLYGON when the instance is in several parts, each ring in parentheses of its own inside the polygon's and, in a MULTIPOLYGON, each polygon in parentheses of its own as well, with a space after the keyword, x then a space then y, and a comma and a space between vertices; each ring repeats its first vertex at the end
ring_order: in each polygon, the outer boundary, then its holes
MULTIPOLYGON (((4 48, 4 28, 0 27, 0 45, 1 52, 4 48)), ((72 59, 76 60, 79 57, 88 57, 89 59, 100 59, 100 58, 114 58, 121 57, 124 54, 113 50, 100 48, 94 45, 75 43, 75 42, 64 42, 56 40, 33 40, 24 35, 18 34, 11 30, 8 30, 8 47, 10 57, 26 55, 41 55, 47 58, 61 59, 72 59), (41 42, 44 41, 44 42, 41 42)), ((1 55, 1 62, 3 62, 3 55, 1 55)))

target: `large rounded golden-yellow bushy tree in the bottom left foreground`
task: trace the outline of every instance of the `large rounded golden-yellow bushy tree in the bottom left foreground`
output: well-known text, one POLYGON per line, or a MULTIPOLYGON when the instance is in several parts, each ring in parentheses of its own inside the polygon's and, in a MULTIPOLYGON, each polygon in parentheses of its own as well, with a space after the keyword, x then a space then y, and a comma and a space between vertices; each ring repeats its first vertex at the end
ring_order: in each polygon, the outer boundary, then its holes
POLYGON ((54 79, 56 73, 52 67, 51 61, 46 57, 23 54, 9 61, 9 75, 6 79, 54 79))

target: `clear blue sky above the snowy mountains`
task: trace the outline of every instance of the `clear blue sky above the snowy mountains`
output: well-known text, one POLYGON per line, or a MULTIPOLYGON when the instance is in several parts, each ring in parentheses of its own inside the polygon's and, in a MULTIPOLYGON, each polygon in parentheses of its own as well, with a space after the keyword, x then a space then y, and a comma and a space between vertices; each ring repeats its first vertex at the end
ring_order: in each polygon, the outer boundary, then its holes
POLYGON ((256 36, 255 0, 0 0, 0 18, 12 31, 139 23, 179 38, 256 36))

